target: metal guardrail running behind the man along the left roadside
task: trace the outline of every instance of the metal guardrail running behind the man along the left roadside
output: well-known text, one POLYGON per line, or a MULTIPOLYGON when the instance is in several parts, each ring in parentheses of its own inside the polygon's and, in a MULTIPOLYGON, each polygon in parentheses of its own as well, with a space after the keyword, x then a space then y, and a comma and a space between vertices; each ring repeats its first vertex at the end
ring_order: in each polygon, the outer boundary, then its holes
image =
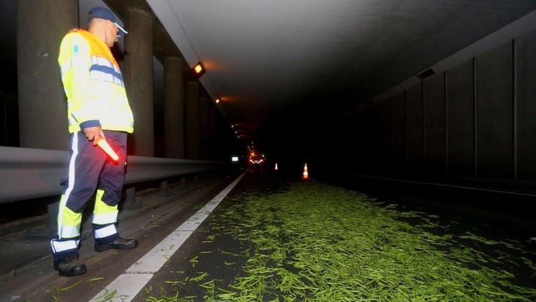
MULTIPOLYGON (((0 147, 0 203, 61 194, 68 151, 0 147)), ((228 164, 218 161, 127 157, 126 184, 202 173, 228 164)))

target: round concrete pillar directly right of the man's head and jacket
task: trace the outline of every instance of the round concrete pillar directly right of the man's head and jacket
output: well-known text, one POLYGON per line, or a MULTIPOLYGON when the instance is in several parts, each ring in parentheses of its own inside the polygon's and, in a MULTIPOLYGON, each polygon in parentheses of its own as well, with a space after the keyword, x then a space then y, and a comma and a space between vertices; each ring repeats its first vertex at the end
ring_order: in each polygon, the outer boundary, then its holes
POLYGON ((153 20, 149 13, 126 10, 123 76, 134 113, 134 134, 128 154, 154 157, 153 20))

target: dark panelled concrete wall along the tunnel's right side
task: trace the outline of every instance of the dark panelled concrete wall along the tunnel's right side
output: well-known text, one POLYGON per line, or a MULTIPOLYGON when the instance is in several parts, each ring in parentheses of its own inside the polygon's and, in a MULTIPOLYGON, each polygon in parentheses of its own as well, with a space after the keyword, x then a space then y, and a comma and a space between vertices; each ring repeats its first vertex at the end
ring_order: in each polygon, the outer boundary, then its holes
POLYGON ((536 180, 536 31, 374 103, 344 127, 369 174, 536 180), (366 146, 365 146, 366 145, 366 146))

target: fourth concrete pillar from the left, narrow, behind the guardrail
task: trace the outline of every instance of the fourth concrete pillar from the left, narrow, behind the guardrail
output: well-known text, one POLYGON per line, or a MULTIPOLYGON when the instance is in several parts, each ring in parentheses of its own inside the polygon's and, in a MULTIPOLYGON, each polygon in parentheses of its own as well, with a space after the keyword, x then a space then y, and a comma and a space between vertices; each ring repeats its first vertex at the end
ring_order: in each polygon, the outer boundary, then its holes
POLYGON ((186 82, 184 143, 186 159, 200 159, 199 84, 186 82))

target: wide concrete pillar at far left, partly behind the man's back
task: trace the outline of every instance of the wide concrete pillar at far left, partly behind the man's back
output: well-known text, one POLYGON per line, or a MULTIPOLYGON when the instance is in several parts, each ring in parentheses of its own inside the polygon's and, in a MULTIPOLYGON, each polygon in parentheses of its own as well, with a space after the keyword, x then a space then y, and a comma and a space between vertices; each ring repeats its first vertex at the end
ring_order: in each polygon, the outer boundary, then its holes
POLYGON ((68 150, 59 44, 78 26, 77 0, 17 0, 20 146, 68 150))

